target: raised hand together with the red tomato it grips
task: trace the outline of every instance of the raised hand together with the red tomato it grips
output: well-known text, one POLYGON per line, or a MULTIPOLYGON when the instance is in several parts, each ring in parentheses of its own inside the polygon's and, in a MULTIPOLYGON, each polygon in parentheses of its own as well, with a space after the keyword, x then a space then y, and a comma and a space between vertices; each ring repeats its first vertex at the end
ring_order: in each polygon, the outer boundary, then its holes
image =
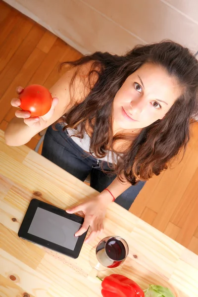
POLYGON ((15 116, 23 118, 24 123, 29 127, 34 125, 34 127, 42 128, 45 122, 47 122, 53 115, 54 108, 58 103, 58 98, 51 98, 48 89, 40 85, 32 85, 25 89, 17 87, 16 92, 18 93, 19 98, 12 99, 11 105, 20 107, 22 110, 16 110, 15 116), (35 86, 37 87, 35 88, 35 86), (38 95, 36 94, 35 96, 35 92, 39 92, 37 93, 38 95), (43 115, 40 116, 41 114, 43 115))

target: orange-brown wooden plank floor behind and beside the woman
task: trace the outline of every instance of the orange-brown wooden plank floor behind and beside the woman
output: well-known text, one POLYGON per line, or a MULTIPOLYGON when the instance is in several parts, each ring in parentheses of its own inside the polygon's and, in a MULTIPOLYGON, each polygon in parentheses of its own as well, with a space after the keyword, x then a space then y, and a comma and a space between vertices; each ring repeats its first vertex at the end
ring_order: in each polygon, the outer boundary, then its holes
MULTIPOLYGON (((0 0, 0 129, 14 116, 17 86, 50 88, 61 61, 82 56, 33 20, 0 0)), ((34 149, 39 135, 27 146, 34 149)), ((149 180, 130 211, 198 254, 198 123, 184 159, 149 180)))

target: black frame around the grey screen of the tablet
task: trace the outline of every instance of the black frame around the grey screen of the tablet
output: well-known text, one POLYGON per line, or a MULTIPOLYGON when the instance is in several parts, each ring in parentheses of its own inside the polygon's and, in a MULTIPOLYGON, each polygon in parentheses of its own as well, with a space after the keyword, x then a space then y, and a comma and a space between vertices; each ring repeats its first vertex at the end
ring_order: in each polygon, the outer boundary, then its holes
POLYGON ((84 218, 82 218, 76 214, 69 214, 61 208, 58 208, 58 207, 53 206, 49 203, 46 203, 39 199, 34 198, 30 201, 30 204, 28 206, 28 209, 26 211, 26 214, 24 216, 24 219, 23 219, 20 229, 18 231, 18 236, 20 238, 28 240, 32 243, 38 244, 43 247, 48 247, 52 250, 63 253, 63 254, 65 254, 69 257, 72 257, 74 259, 78 258, 88 230, 85 233, 83 233, 81 236, 78 237, 78 240, 77 240, 74 250, 68 249, 66 247, 61 247, 59 245, 56 245, 54 243, 51 243, 51 242, 43 239, 43 238, 32 235, 32 234, 28 233, 28 230, 30 228, 30 225, 32 223, 32 220, 34 218, 34 215, 35 215, 38 207, 43 208, 43 209, 50 211, 52 213, 55 213, 57 215, 60 215, 64 218, 67 218, 74 222, 77 222, 79 224, 83 224, 83 222, 84 222, 84 218))

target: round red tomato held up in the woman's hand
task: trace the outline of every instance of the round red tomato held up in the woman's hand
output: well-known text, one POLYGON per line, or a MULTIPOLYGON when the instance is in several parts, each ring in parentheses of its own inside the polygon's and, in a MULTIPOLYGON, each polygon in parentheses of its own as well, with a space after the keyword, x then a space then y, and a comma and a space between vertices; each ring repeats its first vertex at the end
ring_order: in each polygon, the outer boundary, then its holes
POLYGON ((31 116, 42 116, 51 108, 52 97, 49 90, 41 85, 31 85, 19 95, 21 109, 29 111, 31 116))

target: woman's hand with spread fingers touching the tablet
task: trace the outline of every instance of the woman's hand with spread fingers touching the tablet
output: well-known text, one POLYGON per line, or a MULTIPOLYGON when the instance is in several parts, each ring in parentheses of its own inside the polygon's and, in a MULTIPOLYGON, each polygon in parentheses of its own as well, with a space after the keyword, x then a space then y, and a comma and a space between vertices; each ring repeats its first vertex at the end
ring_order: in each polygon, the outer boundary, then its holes
POLYGON ((106 213, 107 204, 105 199, 101 196, 89 198, 89 200, 73 207, 72 209, 66 209, 68 213, 83 212, 85 215, 84 223, 76 233, 75 236, 80 236, 87 231, 89 226, 91 227, 91 233, 85 240, 88 243, 94 240, 99 233, 104 230, 103 220, 106 213))

